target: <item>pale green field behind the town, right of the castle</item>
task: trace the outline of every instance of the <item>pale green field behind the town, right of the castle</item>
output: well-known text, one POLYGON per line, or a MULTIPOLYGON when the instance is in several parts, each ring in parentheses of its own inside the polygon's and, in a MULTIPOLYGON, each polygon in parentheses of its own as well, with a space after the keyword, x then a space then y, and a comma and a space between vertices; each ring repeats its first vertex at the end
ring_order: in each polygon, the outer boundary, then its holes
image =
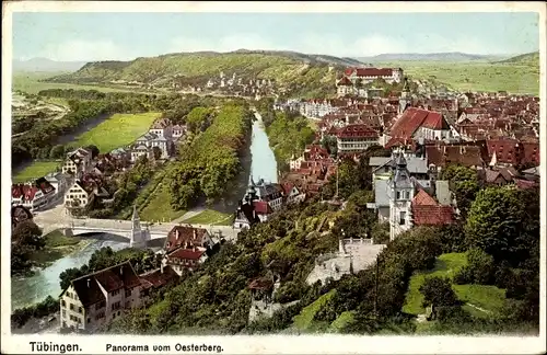
POLYGON ((459 91, 500 91, 539 94, 539 66, 525 64, 399 61, 380 67, 401 67, 414 79, 428 79, 459 91))

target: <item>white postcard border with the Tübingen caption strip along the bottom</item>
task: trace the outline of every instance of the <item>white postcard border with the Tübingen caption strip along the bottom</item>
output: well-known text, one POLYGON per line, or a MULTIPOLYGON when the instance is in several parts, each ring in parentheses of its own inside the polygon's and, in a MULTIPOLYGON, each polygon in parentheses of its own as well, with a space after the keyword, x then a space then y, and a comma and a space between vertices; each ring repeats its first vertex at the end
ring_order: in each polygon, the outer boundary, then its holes
MULTIPOLYGON (((10 250, 10 195, 11 149, 10 126, 5 117, 11 117, 11 56, 12 56, 12 13, 13 12, 538 12, 539 13, 539 53, 540 53, 540 163, 547 167, 545 149, 547 117, 545 105, 546 93, 546 5, 543 2, 163 2, 143 1, 138 5, 130 1, 22 1, 2 2, 2 353, 31 353, 31 341, 75 343, 82 347, 82 354, 107 354, 106 343, 116 345, 170 344, 173 354, 177 343, 207 343, 221 345, 226 354, 525 354, 545 352, 545 265, 546 265, 546 216, 545 204, 540 215, 540 331, 538 337, 455 337, 455 336, 75 336, 75 335, 11 335, 11 283, 9 271, 10 250)), ((465 25, 465 24, 463 24, 465 25)), ((540 199, 546 199, 546 175, 540 178, 540 199)))

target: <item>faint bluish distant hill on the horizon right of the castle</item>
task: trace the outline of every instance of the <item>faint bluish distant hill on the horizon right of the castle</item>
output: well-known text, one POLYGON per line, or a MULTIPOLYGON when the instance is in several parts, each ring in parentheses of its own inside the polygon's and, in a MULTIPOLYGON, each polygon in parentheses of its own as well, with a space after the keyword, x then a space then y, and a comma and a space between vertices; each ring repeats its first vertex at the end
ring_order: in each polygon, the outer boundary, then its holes
POLYGON ((372 57, 358 57, 356 59, 366 62, 375 61, 472 61, 472 60, 499 60, 504 57, 500 56, 486 56, 474 55, 459 51, 452 53, 400 53, 400 54, 381 54, 372 57))

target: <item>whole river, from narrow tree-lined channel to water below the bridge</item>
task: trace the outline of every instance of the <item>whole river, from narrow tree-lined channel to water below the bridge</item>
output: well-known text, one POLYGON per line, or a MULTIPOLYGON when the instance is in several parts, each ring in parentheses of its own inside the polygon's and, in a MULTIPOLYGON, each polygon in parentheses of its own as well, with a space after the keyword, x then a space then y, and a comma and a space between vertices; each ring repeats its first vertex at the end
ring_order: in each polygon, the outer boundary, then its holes
MULTIPOLYGON (((255 182, 258 181, 258 179, 270 182, 278 181, 276 157, 270 149, 261 117, 259 114, 255 115, 257 119, 253 123, 249 150, 241 158, 243 170, 234 180, 233 187, 230 188, 229 195, 226 195, 223 202, 213 206, 217 210, 230 213, 235 210, 238 199, 243 197, 248 186, 251 174, 255 182)), ((88 263, 95 250, 103 247, 110 247, 114 250, 129 247, 129 243, 120 243, 106 239, 107 234, 95 234, 93 236, 93 242, 84 249, 57 260, 50 266, 37 271, 32 277, 12 277, 12 310, 39 302, 48 295, 53 297, 59 296, 61 293, 59 275, 67 268, 80 267, 88 263)))

